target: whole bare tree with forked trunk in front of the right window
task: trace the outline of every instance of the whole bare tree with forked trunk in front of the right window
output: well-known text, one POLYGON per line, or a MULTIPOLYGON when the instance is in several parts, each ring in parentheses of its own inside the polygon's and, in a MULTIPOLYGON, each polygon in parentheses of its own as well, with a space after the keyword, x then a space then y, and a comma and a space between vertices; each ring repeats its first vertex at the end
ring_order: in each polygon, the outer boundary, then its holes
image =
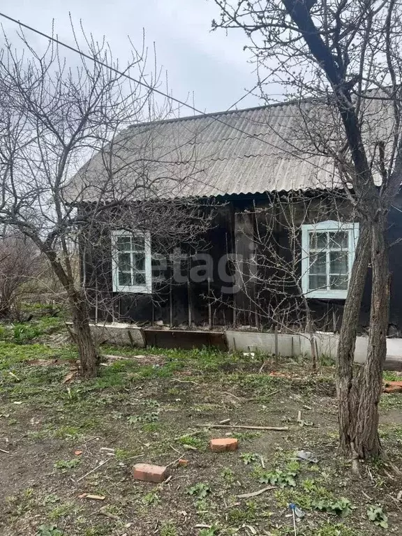
MULTIPOLYGON (((401 4, 394 0, 216 3, 221 19, 214 27, 246 32, 248 49, 265 80, 282 84, 290 96, 318 99, 326 105, 327 117, 334 117, 341 127, 330 156, 359 214, 361 230, 336 364, 339 430, 344 452, 352 452, 355 458, 375 456, 380 452, 378 401, 389 317, 385 230, 401 184, 401 4), (387 105, 390 121, 379 125, 378 136, 367 138, 368 103, 378 101, 387 105), (368 262, 372 267, 368 355, 354 377, 357 320, 368 262)), ((269 86, 260 82, 260 88, 269 99, 269 86)), ((329 154, 327 148, 328 144, 322 154, 329 154)), ((322 151, 319 142, 315 151, 322 151)))

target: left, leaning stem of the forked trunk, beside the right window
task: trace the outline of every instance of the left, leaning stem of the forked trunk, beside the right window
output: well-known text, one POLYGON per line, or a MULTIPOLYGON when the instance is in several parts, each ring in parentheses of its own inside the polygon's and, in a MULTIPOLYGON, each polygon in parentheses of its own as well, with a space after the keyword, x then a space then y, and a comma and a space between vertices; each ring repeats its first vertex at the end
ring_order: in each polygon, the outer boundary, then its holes
POLYGON ((360 305, 362 304, 364 283, 366 282, 368 260, 370 258, 370 239, 370 229, 368 225, 362 223, 359 240, 357 241, 355 262, 350 276, 348 297, 343 310, 336 358, 339 442, 341 451, 344 454, 350 453, 350 442, 355 429, 358 393, 356 382, 353 382, 353 359, 360 305))

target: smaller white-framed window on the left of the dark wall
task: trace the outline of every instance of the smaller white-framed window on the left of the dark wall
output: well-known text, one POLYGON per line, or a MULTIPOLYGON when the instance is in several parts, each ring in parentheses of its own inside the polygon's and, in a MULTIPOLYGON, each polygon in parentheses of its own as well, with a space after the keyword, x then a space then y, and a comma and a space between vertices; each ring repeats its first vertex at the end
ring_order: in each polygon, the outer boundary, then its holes
POLYGON ((149 232, 112 232, 114 292, 152 292, 149 232))

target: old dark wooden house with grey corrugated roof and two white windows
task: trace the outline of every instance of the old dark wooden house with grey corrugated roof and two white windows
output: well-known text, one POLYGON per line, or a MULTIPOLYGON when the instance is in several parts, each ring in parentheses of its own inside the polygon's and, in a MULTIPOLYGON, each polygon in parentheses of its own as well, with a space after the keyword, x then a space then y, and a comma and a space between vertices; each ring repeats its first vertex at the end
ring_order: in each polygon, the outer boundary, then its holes
MULTIPOLYGON (((392 110, 378 98, 364 100, 364 108, 370 118, 364 140, 380 181, 378 142, 387 147, 392 139, 392 110)), ((96 290, 94 319, 191 329, 294 332, 309 325, 336 331, 359 234, 347 177, 339 175, 331 156, 342 144, 331 108, 313 100, 127 128, 110 160, 94 156, 75 178, 75 203, 84 207, 106 196, 140 209, 153 199, 165 207, 191 200, 202 204, 210 220, 197 246, 184 243, 180 251, 168 251, 165 245, 163 253, 156 246, 161 218, 148 228, 144 218, 134 230, 115 225, 101 269, 94 260, 99 252, 82 255, 88 294, 96 290), (105 172, 105 161, 112 173, 105 172)), ((392 335, 402 330, 401 216, 398 196, 388 231, 392 335)), ((361 332, 369 309, 370 276, 361 332)))

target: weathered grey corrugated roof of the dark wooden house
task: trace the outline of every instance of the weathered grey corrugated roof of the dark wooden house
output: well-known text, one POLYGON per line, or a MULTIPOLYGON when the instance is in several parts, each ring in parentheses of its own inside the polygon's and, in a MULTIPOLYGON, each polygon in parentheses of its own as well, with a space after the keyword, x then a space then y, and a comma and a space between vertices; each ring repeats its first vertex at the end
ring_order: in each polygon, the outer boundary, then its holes
MULTIPOLYGON (((364 141, 373 156, 375 142, 392 136, 392 107, 379 98, 367 98, 362 106, 364 141)), ((114 139, 110 173, 108 158, 94 156, 70 184, 70 197, 183 198, 336 188, 334 158, 322 153, 336 151, 343 142, 337 114, 318 101, 139 124, 114 139)))

